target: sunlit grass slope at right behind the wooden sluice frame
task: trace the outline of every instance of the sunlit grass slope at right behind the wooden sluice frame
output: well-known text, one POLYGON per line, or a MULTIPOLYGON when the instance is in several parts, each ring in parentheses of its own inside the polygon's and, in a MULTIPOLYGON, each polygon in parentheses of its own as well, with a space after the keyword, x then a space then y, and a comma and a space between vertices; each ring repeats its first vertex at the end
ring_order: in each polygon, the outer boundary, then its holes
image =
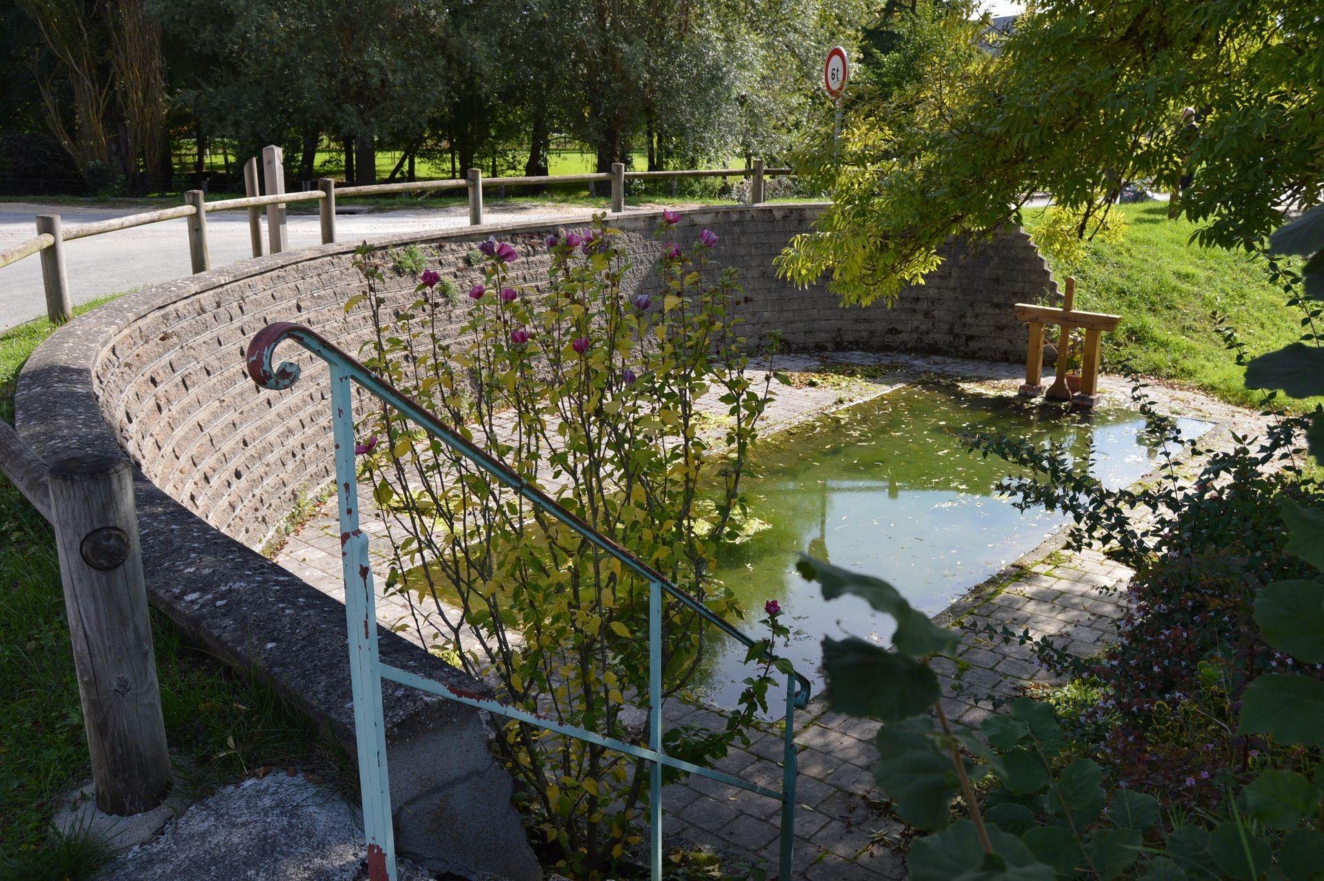
MULTIPOLYGON (((1106 371, 1123 363, 1139 372, 1193 386, 1223 400, 1258 405, 1262 393, 1242 386, 1245 368, 1215 330, 1237 330, 1254 358, 1295 342, 1301 313, 1286 306, 1280 287, 1268 282, 1263 261, 1242 252, 1189 244, 1196 227, 1168 220, 1166 203, 1117 205, 1125 234, 1091 242, 1075 261, 1049 265, 1059 284, 1076 278, 1076 307, 1121 315, 1116 333, 1103 337, 1106 371)), ((1041 212, 1026 216, 1033 233, 1041 212)), ((1292 409, 1324 399, 1279 399, 1292 409)))

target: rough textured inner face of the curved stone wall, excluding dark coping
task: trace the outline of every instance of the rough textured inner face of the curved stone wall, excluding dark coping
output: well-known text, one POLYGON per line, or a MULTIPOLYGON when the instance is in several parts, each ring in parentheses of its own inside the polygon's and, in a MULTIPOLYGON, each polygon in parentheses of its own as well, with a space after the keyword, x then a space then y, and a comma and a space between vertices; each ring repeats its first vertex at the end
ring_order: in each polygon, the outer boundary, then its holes
MULTIPOLYGON (((798 290, 777 280, 772 266, 773 256, 792 234, 809 228, 818 209, 687 212, 675 236, 687 241, 702 228, 718 232, 715 262, 740 272, 751 337, 780 330, 790 348, 801 350, 1023 358, 1025 329, 1010 305, 1055 293, 1025 233, 1002 233, 970 252, 953 242, 939 270, 903 291, 894 309, 842 309, 825 289, 798 290)), ((654 289, 657 216, 626 215, 614 224, 626 233, 634 258, 626 289, 632 294, 654 289)), ((547 231, 545 225, 465 228, 413 241, 429 245, 429 265, 440 265, 465 290, 478 278, 465 264, 466 253, 494 233, 519 248, 522 281, 545 278, 547 231)), ((271 535, 299 492, 326 484, 331 441, 320 366, 305 359, 311 370, 294 389, 257 392, 242 374, 244 346, 269 322, 298 321, 355 351, 368 327, 367 310, 350 315, 343 310, 363 287, 350 265, 351 250, 352 245, 312 248, 126 298, 138 306, 135 314, 115 327, 97 363, 101 411, 120 445, 166 493, 250 547, 271 535)), ((388 273, 388 299, 406 295, 413 281, 388 273)), ((459 318, 457 311, 457 323, 459 318)))

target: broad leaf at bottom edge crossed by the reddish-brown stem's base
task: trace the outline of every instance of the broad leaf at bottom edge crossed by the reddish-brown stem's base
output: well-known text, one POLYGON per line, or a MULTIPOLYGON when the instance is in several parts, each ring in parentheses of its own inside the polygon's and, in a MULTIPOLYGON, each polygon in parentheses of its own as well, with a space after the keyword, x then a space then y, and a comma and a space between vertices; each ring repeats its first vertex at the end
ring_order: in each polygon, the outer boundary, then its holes
MULTIPOLYGON (((1043 865, 1021 840, 996 825, 985 827, 993 851, 1002 857, 1005 868, 985 862, 978 832, 970 820, 953 823, 951 828, 916 839, 911 845, 907 866, 911 881, 1053 881, 1053 866, 1043 865)), ((996 865, 996 864, 994 864, 996 865)))

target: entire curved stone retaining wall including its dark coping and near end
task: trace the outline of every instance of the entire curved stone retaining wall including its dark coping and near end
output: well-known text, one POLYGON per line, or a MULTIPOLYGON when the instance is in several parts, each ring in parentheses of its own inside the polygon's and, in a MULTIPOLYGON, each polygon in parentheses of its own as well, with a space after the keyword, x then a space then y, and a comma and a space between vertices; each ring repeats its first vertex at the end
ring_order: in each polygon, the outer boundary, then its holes
MULTIPOLYGON (((1025 329, 1012 303, 1057 293, 1027 236, 1014 231, 973 248, 949 244, 943 266, 903 291, 892 310, 842 310, 824 287, 797 290, 772 268, 773 256, 808 231, 818 211, 813 204, 690 211, 674 238, 688 242, 700 229, 715 231, 722 238, 715 262, 737 268, 749 295, 744 333, 780 330, 800 350, 1018 360, 1025 329)), ((626 280, 632 294, 657 285, 657 213, 613 219, 636 264, 626 280)), ((518 246, 522 281, 545 278, 547 232, 545 224, 489 225, 387 244, 422 244, 429 265, 440 264, 465 290, 478 276, 465 256, 489 234, 518 246)), ((343 608, 252 550, 273 537, 301 493, 330 481, 326 368, 286 346, 279 355, 298 362, 303 378, 287 391, 258 391, 244 372, 244 354, 274 321, 308 325, 355 352, 368 311, 343 307, 363 287, 352 250, 354 244, 310 248, 124 295, 44 343, 16 397, 21 436, 48 461, 81 449, 123 449, 134 458, 154 604, 221 657, 260 669, 347 745, 354 742, 348 665, 327 662, 344 654, 343 608)), ((412 297, 413 285, 388 272, 388 301, 412 297)), ((451 326, 467 306, 461 298, 451 326)), ((381 639, 392 664, 465 678, 396 635, 383 631, 381 639)), ((391 749, 401 759, 392 759, 395 804, 409 827, 401 835, 422 840, 426 829, 448 847, 467 840, 482 853, 463 860, 490 857, 489 870, 534 877, 536 865, 508 807, 510 782, 482 749, 474 714, 389 685, 387 692, 391 749), (421 771, 409 756, 429 751, 459 758, 421 771), (458 803, 477 812, 481 828, 469 828, 471 816, 457 812, 458 803), (401 805, 409 811, 401 813, 401 805)), ((457 868, 473 865, 461 862, 457 868)))

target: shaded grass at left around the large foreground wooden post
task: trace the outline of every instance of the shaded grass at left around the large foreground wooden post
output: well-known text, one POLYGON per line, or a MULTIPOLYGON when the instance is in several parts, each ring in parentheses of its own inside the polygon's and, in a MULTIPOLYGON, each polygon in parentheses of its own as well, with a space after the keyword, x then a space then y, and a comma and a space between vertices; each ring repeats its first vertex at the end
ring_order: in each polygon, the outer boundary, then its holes
MULTIPOLYGON (((103 302, 103 301, 101 301, 103 302)), ((86 311, 89 303, 77 311, 86 311)), ((0 334, 0 419, 13 383, 53 329, 0 334)), ((205 791, 261 768, 298 767, 348 784, 339 750, 269 688, 180 640, 152 612, 166 733, 184 786, 205 791)), ((86 839, 49 833, 57 796, 91 776, 50 527, 0 476, 0 878, 90 877, 106 858, 86 839)))

